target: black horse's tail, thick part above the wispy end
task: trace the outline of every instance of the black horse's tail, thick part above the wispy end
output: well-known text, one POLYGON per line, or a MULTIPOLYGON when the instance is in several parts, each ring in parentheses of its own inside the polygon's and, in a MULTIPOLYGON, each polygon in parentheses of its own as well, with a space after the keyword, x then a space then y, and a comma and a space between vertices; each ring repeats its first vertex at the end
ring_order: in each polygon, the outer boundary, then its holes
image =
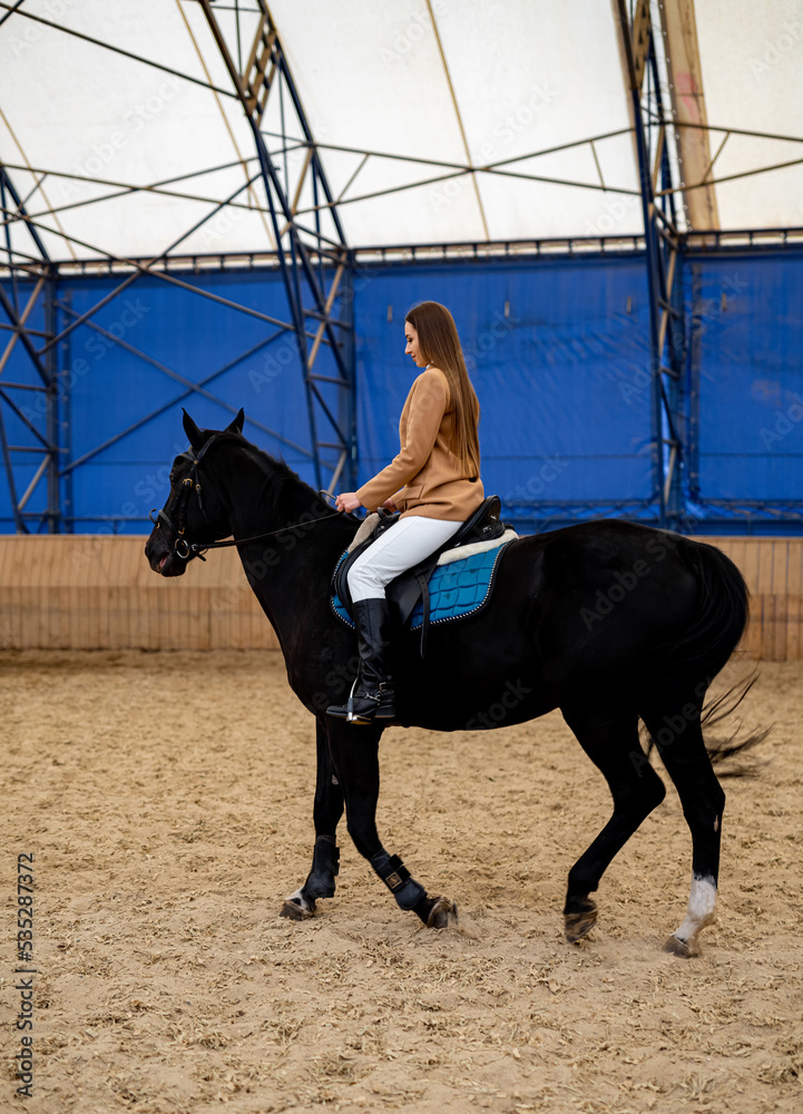
POLYGON ((707 688, 729 658, 747 625, 750 593, 715 546, 679 537, 677 556, 699 586, 697 609, 684 631, 655 647, 654 676, 662 688, 687 692, 689 685, 707 688))

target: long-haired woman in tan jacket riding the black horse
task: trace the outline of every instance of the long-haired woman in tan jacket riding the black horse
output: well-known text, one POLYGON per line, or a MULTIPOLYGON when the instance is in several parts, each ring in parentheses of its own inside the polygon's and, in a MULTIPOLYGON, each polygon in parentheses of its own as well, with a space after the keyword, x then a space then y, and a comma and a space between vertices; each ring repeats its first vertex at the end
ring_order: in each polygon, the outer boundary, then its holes
POLYGON ((336 501, 344 511, 385 507, 402 512, 349 571, 360 675, 351 706, 326 711, 351 723, 395 717, 385 586, 448 541, 484 499, 477 434, 480 407, 454 319, 444 305, 422 302, 408 313, 404 336, 405 355, 423 371, 402 410, 401 450, 372 480, 358 491, 344 491, 336 501))

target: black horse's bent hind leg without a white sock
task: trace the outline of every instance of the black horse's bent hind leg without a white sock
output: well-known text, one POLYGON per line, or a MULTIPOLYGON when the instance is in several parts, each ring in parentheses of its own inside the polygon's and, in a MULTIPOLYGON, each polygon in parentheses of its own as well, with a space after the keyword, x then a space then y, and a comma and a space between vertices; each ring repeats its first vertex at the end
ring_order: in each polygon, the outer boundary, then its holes
POLYGON ((604 712, 562 709, 564 719, 586 754, 605 775, 614 798, 614 813, 569 871, 564 908, 566 939, 575 942, 586 935, 597 919, 591 897, 607 867, 643 820, 664 800, 666 790, 647 762, 638 739, 635 713, 609 717, 604 712))

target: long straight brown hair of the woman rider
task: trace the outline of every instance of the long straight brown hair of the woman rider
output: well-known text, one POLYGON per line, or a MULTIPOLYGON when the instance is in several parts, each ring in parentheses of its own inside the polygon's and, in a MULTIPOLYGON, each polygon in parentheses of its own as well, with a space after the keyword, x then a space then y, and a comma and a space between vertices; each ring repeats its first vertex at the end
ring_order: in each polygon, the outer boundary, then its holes
POLYGON ((479 476, 480 442, 477 426, 480 420, 480 403, 466 368, 454 317, 440 302, 420 302, 407 313, 404 320, 418 333, 421 355, 428 363, 440 368, 447 377, 454 402, 454 455, 468 477, 479 476))

